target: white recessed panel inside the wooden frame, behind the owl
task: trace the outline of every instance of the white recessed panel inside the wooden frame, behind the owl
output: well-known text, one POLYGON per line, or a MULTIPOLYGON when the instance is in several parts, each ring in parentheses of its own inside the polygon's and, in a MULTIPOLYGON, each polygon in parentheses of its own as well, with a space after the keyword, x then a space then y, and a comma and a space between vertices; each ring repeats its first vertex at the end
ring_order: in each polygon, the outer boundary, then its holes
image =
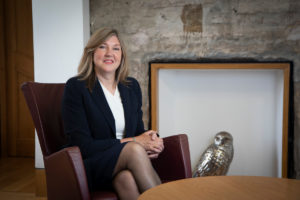
POLYGON ((228 175, 281 177, 282 70, 160 69, 158 98, 158 131, 188 134, 192 168, 224 130, 234 138, 228 175))

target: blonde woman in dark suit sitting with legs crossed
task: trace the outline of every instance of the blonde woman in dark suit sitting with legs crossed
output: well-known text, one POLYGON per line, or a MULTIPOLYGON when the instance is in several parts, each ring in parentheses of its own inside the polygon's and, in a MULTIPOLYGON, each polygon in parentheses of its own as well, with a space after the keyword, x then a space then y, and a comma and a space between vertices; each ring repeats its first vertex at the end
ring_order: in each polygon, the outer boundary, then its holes
POLYGON ((79 146, 90 190, 113 188, 120 199, 137 199, 161 183, 151 158, 163 140, 145 131, 142 94, 128 75, 119 33, 101 29, 89 39, 77 76, 65 86, 62 116, 69 146, 79 146))

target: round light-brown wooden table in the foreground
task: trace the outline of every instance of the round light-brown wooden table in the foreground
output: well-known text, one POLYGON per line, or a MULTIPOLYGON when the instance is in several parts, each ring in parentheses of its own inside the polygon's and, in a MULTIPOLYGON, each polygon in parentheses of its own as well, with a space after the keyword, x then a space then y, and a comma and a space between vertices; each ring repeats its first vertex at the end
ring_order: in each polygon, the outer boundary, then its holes
POLYGON ((300 200, 300 180, 260 176, 210 176, 161 184, 139 200, 300 200))

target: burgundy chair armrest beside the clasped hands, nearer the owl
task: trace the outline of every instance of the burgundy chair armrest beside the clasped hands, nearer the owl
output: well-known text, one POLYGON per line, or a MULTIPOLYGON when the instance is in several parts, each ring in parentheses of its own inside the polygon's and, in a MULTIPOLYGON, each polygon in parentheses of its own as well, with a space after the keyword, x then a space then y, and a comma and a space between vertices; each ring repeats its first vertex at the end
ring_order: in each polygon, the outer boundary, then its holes
POLYGON ((165 149, 157 159, 152 160, 153 167, 162 182, 191 178, 191 159, 186 134, 163 138, 165 149))

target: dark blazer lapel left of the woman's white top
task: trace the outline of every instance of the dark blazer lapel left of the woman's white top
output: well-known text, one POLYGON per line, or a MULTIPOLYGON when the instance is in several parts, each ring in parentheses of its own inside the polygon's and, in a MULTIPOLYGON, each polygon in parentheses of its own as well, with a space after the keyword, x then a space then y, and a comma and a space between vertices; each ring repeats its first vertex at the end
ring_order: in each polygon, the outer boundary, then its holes
POLYGON ((103 112, 103 115, 107 120, 107 123, 109 124, 109 126, 112 129, 114 137, 116 137, 115 119, 109 108, 109 105, 105 98, 104 92, 103 92, 98 80, 96 81, 95 86, 93 88, 92 97, 93 97, 96 105, 98 106, 98 108, 103 112))

